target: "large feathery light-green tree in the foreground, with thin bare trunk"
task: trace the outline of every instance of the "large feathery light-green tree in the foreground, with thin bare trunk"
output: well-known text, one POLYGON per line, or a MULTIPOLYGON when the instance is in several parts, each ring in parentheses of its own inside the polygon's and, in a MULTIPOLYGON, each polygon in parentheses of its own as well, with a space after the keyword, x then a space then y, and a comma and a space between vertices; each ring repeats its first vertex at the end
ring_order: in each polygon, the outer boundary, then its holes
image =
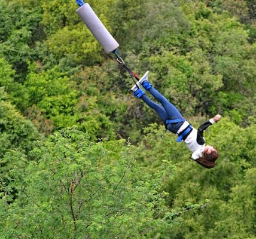
POLYGON ((1 238, 147 238, 169 227, 167 194, 158 190, 172 167, 147 173, 134 152, 123 140, 92 143, 72 129, 39 142, 33 161, 11 152, 4 160, 20 166, 10 171, 19 195, 2 188, 1 238))

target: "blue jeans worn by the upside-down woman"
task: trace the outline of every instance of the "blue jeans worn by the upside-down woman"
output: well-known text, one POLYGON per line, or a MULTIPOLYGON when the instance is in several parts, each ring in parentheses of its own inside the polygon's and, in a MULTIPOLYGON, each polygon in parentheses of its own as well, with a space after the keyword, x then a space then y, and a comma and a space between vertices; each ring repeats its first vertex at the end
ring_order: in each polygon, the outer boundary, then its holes
MULTIPOLYGON (((152 94, 152 96, 154 96, 156 100, 161 103, 162 106, 157 104, 156 102, 153 102, 153 100, 148 98, 148 96, 146 96, 145 94, 142 96, 142 100, 144 100, 144 102, 148 106, 150 106, 150 108, 154 109, 154 111, 159 114, 160 118, 163 120, 164 123, 166 119, 182 118, 182 115, 178 111, 178 109, 174 105, 172 105, 172 103, 170 103, 158 90, 156 90, 154 87, 151 87, 148 91, 150 92, 150 94, 152 94)), ((172 133, 177 133, 182 124, 183 122, 167 124, 167 129, 172 131, 172 133)))

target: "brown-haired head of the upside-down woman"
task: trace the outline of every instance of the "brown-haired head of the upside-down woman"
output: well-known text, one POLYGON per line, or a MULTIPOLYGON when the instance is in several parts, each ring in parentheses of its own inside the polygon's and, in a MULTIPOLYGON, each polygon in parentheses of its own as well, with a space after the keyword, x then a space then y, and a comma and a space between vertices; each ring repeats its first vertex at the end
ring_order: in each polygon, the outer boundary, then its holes
POLYGON ((214 147, 206 145, 202 157, 198 158, 196 162, 205 168, 213 168, 216 165, 215 161, 218 157, 218 151, 214 147))

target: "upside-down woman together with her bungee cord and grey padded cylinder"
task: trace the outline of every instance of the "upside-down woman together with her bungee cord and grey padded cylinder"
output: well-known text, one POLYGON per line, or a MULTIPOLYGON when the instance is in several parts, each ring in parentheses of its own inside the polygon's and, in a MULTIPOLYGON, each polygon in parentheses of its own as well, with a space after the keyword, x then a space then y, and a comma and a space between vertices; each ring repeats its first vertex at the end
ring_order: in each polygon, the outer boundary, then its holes
POLYGON ((153 85, 148 81, 148 71, 139 78, 119 56, 117 48, 119 44, 113 36, 108 32, 106 27, 100 22, 95 12, 89 4, 85 4, 83 0, 76 0, 79 8, 78 15, 83 22, 93 33, 100 45, 106 53, 114 53, 117 57, 117 62, 129 73, 132 77, 134 85, 131 88, 133 96, 142 99, 150 108, 157 112, 159 117, 163 120, 166 129, 178 136, 177 142, 185 142, 186 146, 192 152, 191 158, 205 168, 215 167, 215 161, 218 158, 218 151, 210 145, 205 145, 205 138, 203 131, 215 122, 220 121, 221 116, 215 115, 214 118, 209 119, 196 130, 184 117, 178 109, 172 105, 153 85), (141 90, 140 85, 148 91, 161 105, 154 102, 141 90))

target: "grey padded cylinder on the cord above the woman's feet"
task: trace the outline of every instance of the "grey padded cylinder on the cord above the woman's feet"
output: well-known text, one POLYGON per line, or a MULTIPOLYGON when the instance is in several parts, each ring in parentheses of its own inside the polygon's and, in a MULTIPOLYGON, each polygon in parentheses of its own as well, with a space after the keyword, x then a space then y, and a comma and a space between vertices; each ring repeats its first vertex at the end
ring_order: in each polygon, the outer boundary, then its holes
POLYGON ((89 4, 84 4, 77 10, 78 15, 93 33, 97 41, 104 48, 106 53, 111 53, 119 47, 119 44, 108 32, 106 27, 100 22, 99 17, 95 14, 89 4))

